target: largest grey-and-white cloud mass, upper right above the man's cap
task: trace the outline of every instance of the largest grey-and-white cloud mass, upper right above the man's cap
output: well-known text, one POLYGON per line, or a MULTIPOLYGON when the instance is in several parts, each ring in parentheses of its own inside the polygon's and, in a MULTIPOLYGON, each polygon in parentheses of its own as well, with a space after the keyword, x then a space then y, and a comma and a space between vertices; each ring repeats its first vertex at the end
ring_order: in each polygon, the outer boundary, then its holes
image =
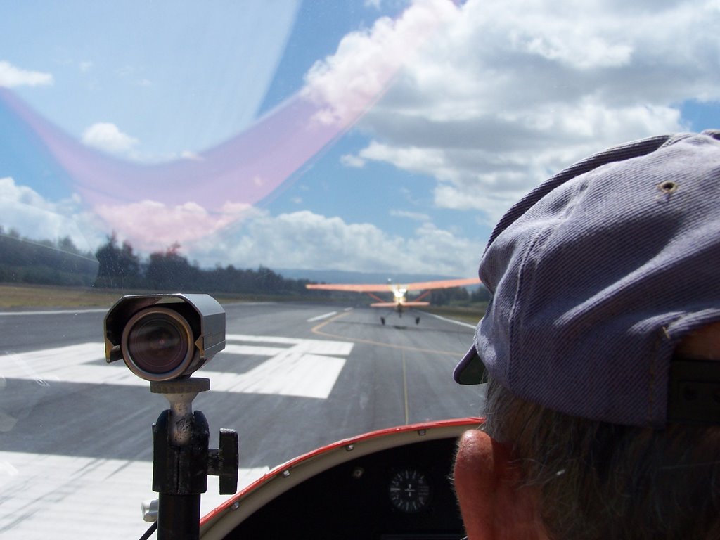
MULTIPOLYGON (((446 4, 416 1, 402 19, 446 4)), ((679 104, 720 101, 716 1, 576 7, 469 0, 452 8, 458 12, 364 114, 359 125, 371 142, 342 163, 380 161, 431 175, 438 207, 482 210, 495 222, 533 186, 590 153, 687 130, 679 104)), ((323 63, 323 78, 361 80, 347 72, 357 59, 369 78, 382 71, 385 60, 374 53, 404 27, 383 29, 346 37, 323 63)))

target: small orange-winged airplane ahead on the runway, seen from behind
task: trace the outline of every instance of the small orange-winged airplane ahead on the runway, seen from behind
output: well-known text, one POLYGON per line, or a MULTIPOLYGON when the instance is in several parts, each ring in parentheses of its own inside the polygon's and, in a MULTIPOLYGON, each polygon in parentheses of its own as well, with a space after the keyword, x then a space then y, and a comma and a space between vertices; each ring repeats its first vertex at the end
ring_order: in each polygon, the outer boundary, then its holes
MULTIPOLYGON (((347 291, 347 292, 364 292, 377 302, 370 307, 390 307, 395 310, 400 317, 408 307, 423 307, 430 305, 422 299, 426 297, 433 289, 449 289, 450 287, 464 287, 466 285, 480 284, 480 279, 462 278, 462 279, 441 279, 433 282, 415 282, 408 284, 393 284, 388 280, 386 284, 348 284, 348 283, 320 283, 307 284, 307 289, 317 289, 325 291, 347 291), (393 301, 386 302, 382 298, 373 294, 374 292, 392 292, 393 301), (408 291, 425 291, 415 300, 407 300, 405 296, 408 291)), ((380 322, 385 324, 385 318, 381 317, 380 322)), ((415 324, 420 323, 420 318, 415 317, 415 324)))

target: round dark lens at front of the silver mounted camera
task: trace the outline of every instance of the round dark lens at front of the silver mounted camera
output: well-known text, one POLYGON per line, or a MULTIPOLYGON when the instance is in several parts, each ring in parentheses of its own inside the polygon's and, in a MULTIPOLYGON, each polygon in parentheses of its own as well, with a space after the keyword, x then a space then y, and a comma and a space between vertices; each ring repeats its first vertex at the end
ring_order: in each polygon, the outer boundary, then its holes
POLYGON ((192 361, 192 330, 177 312, 148 307, 128 321, 122 348, 125 363, 138 377, 148 381, 174 379, 192 361))

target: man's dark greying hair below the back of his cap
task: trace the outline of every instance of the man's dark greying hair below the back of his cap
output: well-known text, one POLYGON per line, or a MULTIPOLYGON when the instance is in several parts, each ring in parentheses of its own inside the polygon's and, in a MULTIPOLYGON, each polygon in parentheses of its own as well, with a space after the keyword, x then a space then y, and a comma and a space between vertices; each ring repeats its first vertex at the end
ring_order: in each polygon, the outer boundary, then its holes
POLYGON ((553 539, 720 538, 720 426, 620 426, 526 402, 492 379, 483 430, 510 444, 553 539))

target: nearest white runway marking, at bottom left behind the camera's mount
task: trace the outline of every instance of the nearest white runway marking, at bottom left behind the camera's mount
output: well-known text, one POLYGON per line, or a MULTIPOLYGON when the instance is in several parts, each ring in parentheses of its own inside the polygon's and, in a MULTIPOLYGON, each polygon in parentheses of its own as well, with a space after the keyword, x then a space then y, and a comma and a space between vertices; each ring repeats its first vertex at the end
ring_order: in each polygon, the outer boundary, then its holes
MULTIPOLYGON (((0 451, 0 487, 12 493, 1 503, 0 536, 139 538, 150 526, 140 502, 158 497, 152 472, 152 462, 0 451)), ((266 472, 269 467, 240 469, 238 488, 266 472)), ((208 477, 201 516, 230 498, 219 495, 218 487, 218 477, 208 477)))

